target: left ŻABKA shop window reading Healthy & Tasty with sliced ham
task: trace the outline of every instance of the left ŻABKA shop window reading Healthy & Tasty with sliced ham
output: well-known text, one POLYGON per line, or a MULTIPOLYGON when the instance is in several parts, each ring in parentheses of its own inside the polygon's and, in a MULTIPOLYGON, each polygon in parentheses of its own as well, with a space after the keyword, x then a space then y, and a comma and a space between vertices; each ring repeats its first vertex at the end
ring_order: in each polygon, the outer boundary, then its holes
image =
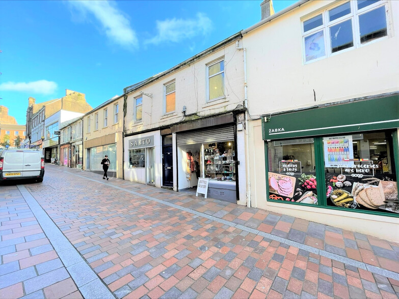
POLYGON ((318 204, 314 140, 269 142, 269 199, 318 204))

